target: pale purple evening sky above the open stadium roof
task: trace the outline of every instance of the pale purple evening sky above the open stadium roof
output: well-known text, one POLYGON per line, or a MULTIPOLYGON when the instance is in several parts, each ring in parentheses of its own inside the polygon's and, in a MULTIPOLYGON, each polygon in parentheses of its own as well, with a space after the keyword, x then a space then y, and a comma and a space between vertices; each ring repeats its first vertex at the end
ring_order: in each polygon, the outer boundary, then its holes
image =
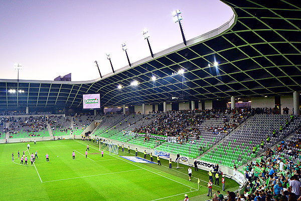
POLYGON ((0 6, 0 79, 53 80, 72 73, 72 81, 99 77, 149 56, 141 30, 148 29, 154 53, 182 43, 172 12, 180 9, 186 39, 211 31, 233 15, 218 0, 194 1, 2 1, 0 6))

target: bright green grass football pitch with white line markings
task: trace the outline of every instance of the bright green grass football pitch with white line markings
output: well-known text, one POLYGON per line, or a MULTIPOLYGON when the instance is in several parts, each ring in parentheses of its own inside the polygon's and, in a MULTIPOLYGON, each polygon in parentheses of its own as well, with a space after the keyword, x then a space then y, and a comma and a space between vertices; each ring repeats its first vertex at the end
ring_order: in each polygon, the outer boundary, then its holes
MULTIPOLYGON (((136 163, 109 155, 101 157, 98 145, 81 140, 57 140, 30 143, 30 153, 38 151, 35 165, 21 165, 18 150, 22 154, 27 143, 0 145, 0 189, 2 200, 183 200, 184 194, 191 200, 207 200, 208 175, 206 171, 194 171, 188 180, 187 166, 169 169, 168 161, 158 164, 136 163), (88 158, 84 153, 90 144, 88 158), (72 160, 72 151, 76 159, 72 160), (11 154, 14 152, 15 160, 11 154), (45 154, 50 155, 46 162, 45 154), (58 156, 58 157, 57 157, 58 156), (200 178, 198 190, 197 178, 200 178)), ((134 151, 126 156, 133 156, 134 151)), ((120 155, 123 152, 119 151, 120 155)), ((138 156, 142 157, 142 153, 138 156)), ((148 156, 149 159, 149 156, 148 156)), ((156 157, 154 157, 157 162, 156 157)), ((176 166, 176 163, 173 163, 176 166)), ((221 184, 219 185, 221 186, 221 184)), ((220 190, 213 186, 213 193, 220 190)), ((226 190, 235 190, 238 183, 226 180, 226 190)))

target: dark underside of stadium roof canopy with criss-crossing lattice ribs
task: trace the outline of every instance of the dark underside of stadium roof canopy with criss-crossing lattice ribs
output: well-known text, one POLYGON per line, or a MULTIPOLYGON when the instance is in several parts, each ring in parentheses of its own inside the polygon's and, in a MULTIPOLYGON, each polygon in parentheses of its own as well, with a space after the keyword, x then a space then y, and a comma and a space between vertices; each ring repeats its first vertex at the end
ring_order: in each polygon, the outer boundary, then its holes
POLYGON ((234 16, 220 28, 102 79, 0 80, 0 108, 81 107, 85 93, 100 93, 103 106, 120 106, 170 102, 173 97, 215 100, 301 91, 299 1, 222 2, 233 8, 234 16), (184 73, 179 74, 181 69, 184 73), (138 85, 131 85, 133 81, 138 85))

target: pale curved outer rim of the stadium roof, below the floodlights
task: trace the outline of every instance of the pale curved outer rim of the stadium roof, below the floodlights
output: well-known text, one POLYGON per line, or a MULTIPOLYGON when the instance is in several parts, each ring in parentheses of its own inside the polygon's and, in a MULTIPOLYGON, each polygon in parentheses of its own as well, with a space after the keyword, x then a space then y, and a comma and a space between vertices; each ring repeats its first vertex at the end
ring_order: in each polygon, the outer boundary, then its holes
MULTIPOLYGON (((227 5, 229 6, 229 5, 227 5)), ((233 16, 223 25, 221 25, 220 27, 209 31, 205 34, 202 34, 200 36, 197 36, 193 39, 190 39, 187 41, 187 46, 184 45, 184 43, 180 43, 178 45, 175 45, 173 47, 170 47, 168 49, 165 49, 161 52, 155 53, 154 54, 154 58, 152 58, 151 56, 145 57, 143 59, 140 59, 136 62, 132 63, 132 66, 130 67, 129 65, 126 65, 122 68, 119 68, 117 70, 115 70, 115 73, 110 72, 108 74, 105 74, 102 76, 102 78, 98 78, 98 79, 93 79, 93 80, 86 80, 86 81, 52 81, 52 80, 27 80, 27 79, 20 79, 19 83, 53 83, 53 84, 89 84, 89 83, 93 83, 93 82, 97 82, 99 80, 105 79, 107 77, 110 77, 114 74, 120 73, 122 71, 134 68, 135 66, 141 65, 145 62, 148 62, 150 60, 154 60, 157 58, 160 58, 162 56, 165 56, 167 54, 173 53, 175 51, 181 50, 181 49, 185 49, 187 47, 196 45, 198 43, 202 43, 204 41, 210 40, 212 38, 215 38, 221 34, 223 34, 224 32, 230 30, 236 23, 236 19, 237 19, 237 15, 234 11, 234 9, 231 7, 232 11, 233 11, 233 16)), ((17 79, 0 79, 0 82, 17 82, 17 79)))

